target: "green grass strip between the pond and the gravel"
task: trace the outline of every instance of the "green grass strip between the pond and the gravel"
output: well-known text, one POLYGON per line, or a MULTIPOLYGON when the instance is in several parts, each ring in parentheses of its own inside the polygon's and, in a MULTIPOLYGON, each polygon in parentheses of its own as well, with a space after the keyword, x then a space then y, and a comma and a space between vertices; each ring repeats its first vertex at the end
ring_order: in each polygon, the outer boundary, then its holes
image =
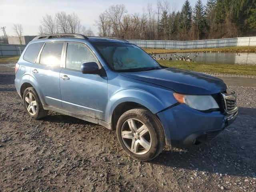
POLYGON ((200 63, 187 61, 158 61, 161 65, 204 73, 256 76, 256 65, 200 63))

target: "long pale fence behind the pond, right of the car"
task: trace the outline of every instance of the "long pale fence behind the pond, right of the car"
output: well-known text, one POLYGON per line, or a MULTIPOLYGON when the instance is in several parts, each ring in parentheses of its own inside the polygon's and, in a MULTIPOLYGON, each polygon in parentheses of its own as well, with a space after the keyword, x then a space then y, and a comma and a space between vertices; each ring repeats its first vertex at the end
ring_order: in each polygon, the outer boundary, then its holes
POLYGON ((128 40, 142 48, 154 49, 202 49, 229 46, 256 46, 256 37, 210 39, 196 41, 128 40))

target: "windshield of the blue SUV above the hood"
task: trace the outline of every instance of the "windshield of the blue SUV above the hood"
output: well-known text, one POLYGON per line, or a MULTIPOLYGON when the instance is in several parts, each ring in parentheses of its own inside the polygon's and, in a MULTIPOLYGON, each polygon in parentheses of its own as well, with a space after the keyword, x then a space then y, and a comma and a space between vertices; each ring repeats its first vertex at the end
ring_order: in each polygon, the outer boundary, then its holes
POLYGON ((137 72, 161 69, 158 62, 136 45, 126 43, 95 43, 94 45, 112 70, 137 72))

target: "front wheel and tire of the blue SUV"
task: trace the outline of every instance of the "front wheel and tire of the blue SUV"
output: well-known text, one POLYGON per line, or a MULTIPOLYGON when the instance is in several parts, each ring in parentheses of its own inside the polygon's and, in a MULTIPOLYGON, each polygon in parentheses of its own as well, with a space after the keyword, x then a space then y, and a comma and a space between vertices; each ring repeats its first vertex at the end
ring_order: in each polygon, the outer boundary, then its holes
POLYGON ((117 122, 116 134, 123 150, 141 161, 150 161, 158 156, 165 144, 160 120, 144 108, 122 114, 117 122))

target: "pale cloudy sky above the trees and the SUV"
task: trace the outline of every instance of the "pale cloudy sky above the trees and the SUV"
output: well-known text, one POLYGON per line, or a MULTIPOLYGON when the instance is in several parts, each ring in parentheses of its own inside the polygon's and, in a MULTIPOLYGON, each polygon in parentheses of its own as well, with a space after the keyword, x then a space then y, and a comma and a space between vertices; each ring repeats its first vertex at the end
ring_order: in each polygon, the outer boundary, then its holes
MULTIPOLYGON (((202 0, 205 4, 207 0, 202 0)), ((0 27, 6 26, 7 35, 15 35, 12 26, 20 23, 24 35, 38 35, 40 20, 46 14, 55 15, 56 12, 65 11, 67 14, 75 12, 81 24, 91 28, 95 35, 98 32, 94 26, 98 14, 104 12, 110 5, 124 4, 129 13, 142 12, 148 2, 156 5, 157 0, 0 0, 0 27)), ((170 5, 176 4, 177 9, 182 8, 185 0, 169 0, 170 5)), ((194 7, 196 0, 190 0, 194 7)), ((0 35, 4 33, 0 30, 0 35)))

